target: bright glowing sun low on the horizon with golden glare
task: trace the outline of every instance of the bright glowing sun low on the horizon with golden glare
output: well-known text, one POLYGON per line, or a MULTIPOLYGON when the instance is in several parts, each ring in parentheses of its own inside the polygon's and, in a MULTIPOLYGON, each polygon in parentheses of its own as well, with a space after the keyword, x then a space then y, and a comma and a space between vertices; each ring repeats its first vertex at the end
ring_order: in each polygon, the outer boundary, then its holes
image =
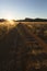
POLYGON ((14 19, 12 12, 5 12, 4 19, 7 20, 8 25, 14 25, 14 19))

